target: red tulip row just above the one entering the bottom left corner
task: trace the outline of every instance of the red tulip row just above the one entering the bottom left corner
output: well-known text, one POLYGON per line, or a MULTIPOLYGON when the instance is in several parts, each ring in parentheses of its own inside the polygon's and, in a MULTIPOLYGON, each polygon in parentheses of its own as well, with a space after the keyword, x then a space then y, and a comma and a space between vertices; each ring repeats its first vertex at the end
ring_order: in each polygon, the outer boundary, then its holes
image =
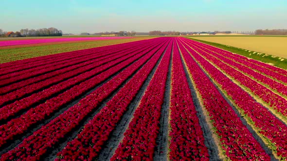
MULTIPOLYGON (((137 59, 141 58, 149 50, 150 49, 146 49, 145 51, 137 53, 135 56, 129 58, 121 64, 110 67, 105 72, 102 72, 101 74, 92 77, 87 81, 83 81, 82 83, 73 86, 71 89, 65 91, 64 93, 61 93, 60 95, 47 100, 45 103, 30 109, 27 113, 22 114, 20 117, 12 119, 7 124, 0 126, 0 146, 5 144, 7 140, 13 139, 13 136, 23 133, 32 125, 35 125, 39 121, 44 120, 47 116, 57 111, 59 108, 73 100, 75 97, 81 96, 84 92, 94 88, 97 84, 108 79, 108 77, 126 67, 128 64, 131 64, 137 59)), ((123 57, 120 58, 119 61, 125 59, 126 58, 123 57)), ((11 111, 8 111, 8 113, 9 112, 11 111)))

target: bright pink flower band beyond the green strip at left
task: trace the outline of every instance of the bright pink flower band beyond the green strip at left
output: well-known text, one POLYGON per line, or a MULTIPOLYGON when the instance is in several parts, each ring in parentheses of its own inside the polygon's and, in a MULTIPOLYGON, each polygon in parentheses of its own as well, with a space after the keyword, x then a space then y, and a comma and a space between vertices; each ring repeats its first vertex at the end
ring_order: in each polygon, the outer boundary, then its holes
POLYGON ((0 41, 0 47, 40 44, 40 43, 53 43, 53 42, 69 42, 69 41, 85 41, 85 40, 86 41, 87 40, 116 40, 116 39, 127 39, 127 38, 132 38, 132 37, 67 37, 67 38, 8 40, 8 41, 0 41))

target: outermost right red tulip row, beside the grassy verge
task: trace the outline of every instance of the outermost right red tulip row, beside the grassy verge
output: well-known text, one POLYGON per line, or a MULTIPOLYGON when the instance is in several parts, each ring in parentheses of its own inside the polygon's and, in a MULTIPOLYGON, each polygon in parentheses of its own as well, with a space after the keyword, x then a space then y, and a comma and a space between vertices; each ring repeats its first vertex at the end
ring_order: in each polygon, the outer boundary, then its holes
POLYGON ((215 47, 203 44, 203 43, 199 43, 197 41, 192 41, 192 40, 188 40, 188 41, 194 44, 197 44, 199 46, 202 46, 204 48, 209 48, 210 50, 220 53, 224 56, 227 56, 230 59, 234 59, 236 62, 240 62, 268 76, 271 76, 277 80, 282 80, 286 82, 287 70, 285 69, 281 69, 273 65, 265 64, 265 63, 256 61, 254 59, 249 59, 245 56, 241 56, 238 54, 234 55, 232 52, 229 52, 229 51, 226 51, 220 48, 215 48, 215 47))

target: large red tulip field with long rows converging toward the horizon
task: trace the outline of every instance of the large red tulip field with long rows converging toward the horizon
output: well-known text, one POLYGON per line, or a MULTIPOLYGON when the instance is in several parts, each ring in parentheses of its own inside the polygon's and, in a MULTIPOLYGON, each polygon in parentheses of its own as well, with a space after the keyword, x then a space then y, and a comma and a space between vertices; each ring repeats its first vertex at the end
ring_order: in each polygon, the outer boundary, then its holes
POLYGON ((0 161, 50 160, 287 160, 287 70, 184 37, 0 64, 0 161))

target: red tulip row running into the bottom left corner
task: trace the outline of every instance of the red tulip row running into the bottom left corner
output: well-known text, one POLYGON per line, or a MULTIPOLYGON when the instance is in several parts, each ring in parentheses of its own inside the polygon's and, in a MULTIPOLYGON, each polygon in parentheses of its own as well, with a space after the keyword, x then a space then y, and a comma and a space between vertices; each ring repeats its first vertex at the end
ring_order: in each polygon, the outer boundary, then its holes
MULTIPOLYGON (((168 42, 165 42, 166 45, 167 43, 168 42)), ((64 138, 65 134, 72 131, 72 129, 75 128, 79 124, 79 122, 84 119, 86 115, 95 110, 100 104, 100 102, 102 102, 106 97, 108 97, 128 77, 130 77, 133 72, 135 72, 150 57, 152 57, 156 53, 156 51, 163 46, 163 44, 164 43, 161 43, 161 45, 159 45, 157 48, 153 49, 148 54, 145 54, 142 59, 139 59, 138 61, 127 67, 113 79, 97 88, 87 97, 81 99, 79 103, 69 108, 64 113, 60 114, 47 125, 41 127, 41 129, 37 130, 31 136, 26 138, 16 148, 3 154, 1 156, 2 160, 40 160, 40 157, 45 154, 49 148, 56 144, 59 139, 64 138)), ((163 50, 159 52, 159 56, 161 55, 162 51, 163 50)), ((108 70, 108 72, 112 74, 113 70, 115 69, 108 70)), ((98 78, 91 81, 90 83, 101 81, 103 80, 101 78, 98 78)), ((83 151, 83 153, 85 154, 86 151, 83 151)))

